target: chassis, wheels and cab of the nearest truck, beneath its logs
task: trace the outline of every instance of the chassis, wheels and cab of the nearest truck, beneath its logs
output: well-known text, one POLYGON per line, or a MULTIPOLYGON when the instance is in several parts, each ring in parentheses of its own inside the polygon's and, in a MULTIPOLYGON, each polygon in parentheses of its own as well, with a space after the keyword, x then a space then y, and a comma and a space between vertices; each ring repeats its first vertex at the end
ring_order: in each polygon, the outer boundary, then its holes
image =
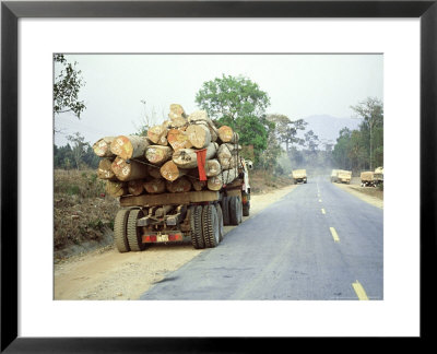
POLYGON ((238 225, 249 215, 247 166, 250 162, 239 157, 237 178, 220 190, 121 196, 114 224, 117 249, 141 251, 150 244, 184 241, 197 249, 216 247, 225 225, 238 225))

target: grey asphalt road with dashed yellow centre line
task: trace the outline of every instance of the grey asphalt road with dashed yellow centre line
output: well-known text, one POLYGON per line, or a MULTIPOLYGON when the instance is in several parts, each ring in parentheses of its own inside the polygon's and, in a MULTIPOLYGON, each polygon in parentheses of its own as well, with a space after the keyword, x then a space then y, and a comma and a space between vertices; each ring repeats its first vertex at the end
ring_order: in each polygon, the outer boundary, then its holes
POLYGON ((140 299, 381 300, 382 214, 309 179, 140 299))

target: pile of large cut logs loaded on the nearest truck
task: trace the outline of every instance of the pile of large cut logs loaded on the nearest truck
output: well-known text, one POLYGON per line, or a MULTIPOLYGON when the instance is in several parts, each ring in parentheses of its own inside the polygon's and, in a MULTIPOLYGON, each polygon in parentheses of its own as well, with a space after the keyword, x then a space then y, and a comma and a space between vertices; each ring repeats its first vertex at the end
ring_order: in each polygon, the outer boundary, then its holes
POLYGON ((106 180, 108 194, 216 191, 237 178, 238 133, 227 126, 217 129, 204 110, 186 115, 177 104, 170 105, 168 118, 146 137, 105 137, 93 145, 102 157, 97 177, 106 180), (199 174, 200 151, 206 178, 199 174))

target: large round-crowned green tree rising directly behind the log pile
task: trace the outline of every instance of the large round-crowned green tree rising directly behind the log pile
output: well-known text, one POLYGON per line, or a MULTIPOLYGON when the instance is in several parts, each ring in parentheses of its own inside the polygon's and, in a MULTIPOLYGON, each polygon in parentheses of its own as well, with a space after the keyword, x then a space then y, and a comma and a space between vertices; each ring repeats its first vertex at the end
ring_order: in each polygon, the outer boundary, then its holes
POLYGON ((255 163, 258 162, 268 148, 274 123, 265 116, 269 95, 257 83, 244 76, 222 75, 203 83, 196 103, 218 126, 229 126, 237 131, 241 145, 253 145, 255 163))

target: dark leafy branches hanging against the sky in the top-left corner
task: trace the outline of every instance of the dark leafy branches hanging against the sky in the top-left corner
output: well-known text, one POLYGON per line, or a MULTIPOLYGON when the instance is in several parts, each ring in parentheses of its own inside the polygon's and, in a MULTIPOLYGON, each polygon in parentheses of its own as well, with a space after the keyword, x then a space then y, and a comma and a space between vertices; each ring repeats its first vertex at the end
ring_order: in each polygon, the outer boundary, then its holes
POLYGON ((56 115, 72 111, 81 118, 82 111, 86 108, 83 101, 79 99, 79 92, 84 86, 81 70, 78 70, 76 62, 68 62, 64 55, 54 55, 55 68, 59 74, 54 83, 54 113, 56 115))

